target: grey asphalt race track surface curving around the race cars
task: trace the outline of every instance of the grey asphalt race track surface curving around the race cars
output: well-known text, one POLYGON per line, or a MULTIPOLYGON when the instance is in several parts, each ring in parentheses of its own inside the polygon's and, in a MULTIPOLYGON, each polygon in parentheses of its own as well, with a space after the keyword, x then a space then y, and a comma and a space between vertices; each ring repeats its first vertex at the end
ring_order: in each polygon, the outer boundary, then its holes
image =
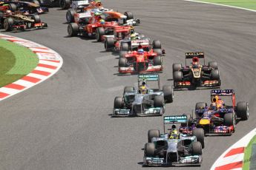
MULTIPOLYGON (((162 41, 167 52, 162 84, 173 83, 171 66, 184 63, 185 52, 203 50, 206 62, 218 61, 222 88, 235 89, 237 101, 249 102, 249 120, 238 123, 234 135, 206 137, 203 164, 180 168, 210 169, 256 124, 256 13, 180 0, 104 4, 131 10, 142 22, 137 32, 162 41)), ((49 80, 1 101, 0 169, 142 169, 148 129, 163 132, 163 118, 110 116, 114 97, 137 83, 137 76, 116 75, 118 55, 105 52, 102 43, 67 37, 65 10, 50 9, 41 17, 47 29, 7 34, 56 50, 64 64, 49 80)), ((189 113, 199 101, 209 103, 209 89, 175 92, 165 115, 189 113)))

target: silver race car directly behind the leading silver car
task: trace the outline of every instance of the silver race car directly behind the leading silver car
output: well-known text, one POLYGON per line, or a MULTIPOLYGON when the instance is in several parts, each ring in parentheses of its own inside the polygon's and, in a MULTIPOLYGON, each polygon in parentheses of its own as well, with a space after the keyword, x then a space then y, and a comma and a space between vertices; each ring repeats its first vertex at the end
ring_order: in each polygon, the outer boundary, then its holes
POLYGON ((165 85, 160 90, 160 76, 157 74, 138 75, 139 89, 125 86, 123 97, 114 99, 114 116, 149 116, 163 115, 165 103, 172 103, 174 93, 172 86, 165 85), (149 89, 148 83, 157 81, 157 89, 149 89))

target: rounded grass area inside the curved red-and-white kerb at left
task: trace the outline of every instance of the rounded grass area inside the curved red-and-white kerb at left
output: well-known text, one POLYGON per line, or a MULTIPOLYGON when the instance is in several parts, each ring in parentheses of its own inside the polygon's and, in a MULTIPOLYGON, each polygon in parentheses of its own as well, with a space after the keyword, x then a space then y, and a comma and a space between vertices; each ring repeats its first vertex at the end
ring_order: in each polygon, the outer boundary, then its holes
POLYGON ((0 87, 30 73, 38 61, 36 54, 26 47, 0 39, 0 87))

